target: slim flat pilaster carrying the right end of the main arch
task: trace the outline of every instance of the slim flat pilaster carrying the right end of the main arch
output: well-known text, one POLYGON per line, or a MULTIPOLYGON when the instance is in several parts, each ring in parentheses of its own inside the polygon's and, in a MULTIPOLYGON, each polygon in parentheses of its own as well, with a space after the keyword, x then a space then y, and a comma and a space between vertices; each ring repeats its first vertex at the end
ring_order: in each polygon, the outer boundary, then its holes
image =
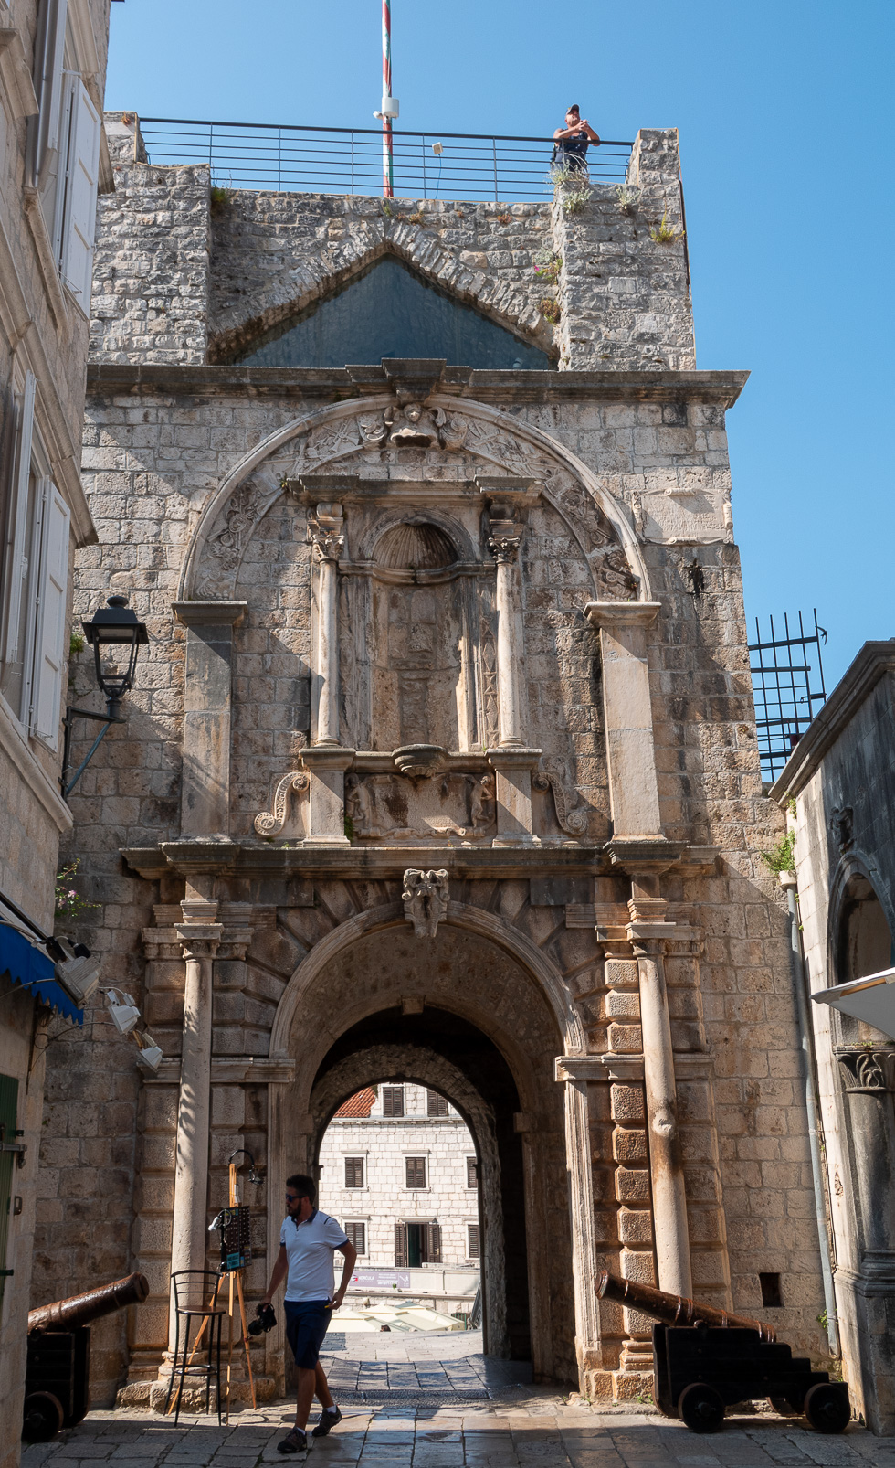
POLYGON ((594 1293, 597 1238, 590 1166, 588 1080, 603 1080, 599 1055, 559 1055, 556 1080, 565 1083, 566 1171, 572 1223, 572 1277, 575 1290, 575 1353, 581 1390, 594 1395, 594 1373, 602 1371, 600 1314, 594 1293))

